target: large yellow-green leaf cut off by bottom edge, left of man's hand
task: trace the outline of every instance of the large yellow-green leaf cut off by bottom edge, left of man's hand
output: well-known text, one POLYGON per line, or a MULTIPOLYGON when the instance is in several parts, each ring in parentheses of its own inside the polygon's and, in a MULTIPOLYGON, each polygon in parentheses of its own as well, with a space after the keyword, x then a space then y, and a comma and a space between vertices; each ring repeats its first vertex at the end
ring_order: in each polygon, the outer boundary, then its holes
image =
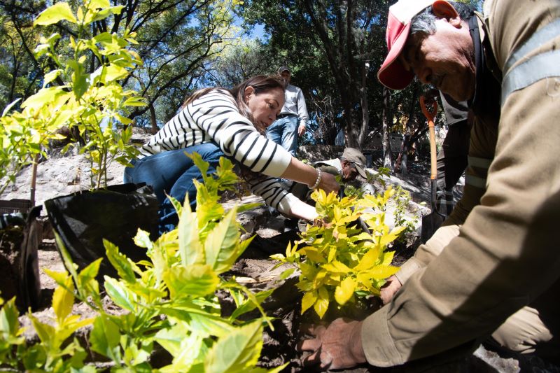
POLYGON ((258 362, 262 349, 262 324, 254 321, 218 339, 204 360, 207 373, 244 372, 258 362))

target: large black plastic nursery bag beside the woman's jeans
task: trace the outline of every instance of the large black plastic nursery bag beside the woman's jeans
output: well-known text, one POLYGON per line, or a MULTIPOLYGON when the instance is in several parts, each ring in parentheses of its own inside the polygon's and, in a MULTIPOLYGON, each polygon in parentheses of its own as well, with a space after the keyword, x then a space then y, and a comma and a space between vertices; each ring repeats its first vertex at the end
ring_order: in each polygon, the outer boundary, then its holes
POLYGON ((104 190, 76 192, 45 201, 48 218, 80 269, 104 258, 99 279, 116 276, 105 255, 103 239, 118 246, 120 253, 137 262, 146 251, 132 240, 138 229, 158 237, 158 199, 151 187, 139 184, 111 185, 104 190))

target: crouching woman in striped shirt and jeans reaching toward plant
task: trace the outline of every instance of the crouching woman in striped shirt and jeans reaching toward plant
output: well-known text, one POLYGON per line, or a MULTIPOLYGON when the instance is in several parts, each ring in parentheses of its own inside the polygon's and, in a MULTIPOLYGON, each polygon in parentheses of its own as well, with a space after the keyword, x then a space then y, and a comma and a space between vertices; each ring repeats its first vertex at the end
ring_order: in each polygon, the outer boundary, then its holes
POLYGON ((125 182, 153 186, 160 201, 160 233, 174 229, 179 221, 165 193, 181 203, 188 193, 191 206, 196 204, 193 178, 202 182, 202 174, 184 152, 199 153, 209 162, 209 173, 216 170, 221 156, 237 161, 253 175, 259 174, 246 179, 269 206, 288 216, 316 218, 314 207, 286 192, 278 178, 326 192, 337 191, 339 185, 334 176, 321 174, 262 135, 283 102, 284 83, 279 76, 255 76, 232 90, 200 90, 141 148, 134 167, 125 169, 125 182))

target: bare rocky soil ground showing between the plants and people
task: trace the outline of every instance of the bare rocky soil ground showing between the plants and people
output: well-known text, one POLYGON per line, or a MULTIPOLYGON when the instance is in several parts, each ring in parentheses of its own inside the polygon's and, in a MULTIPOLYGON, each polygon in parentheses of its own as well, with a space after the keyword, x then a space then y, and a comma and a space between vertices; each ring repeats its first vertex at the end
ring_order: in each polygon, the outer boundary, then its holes
MULTIPOLYGON (((146 139, 148 134, 137 135, 140 139, 146 139)), ((426 171, 425 164, 415 166, 412 164, 409 169, 426 171)), ((37 204, 42 204, 45 199, 59 195, 69 194, 77 190, 87 189, 89 181, 87 173, 89 164, 81 155, 71 154, 67 156, 52 155, 49 160, 45 160, 38 167, 38 181, 36 190, 37 204)), ((1 199, 29 198, 30 171, 24 171, 18 178, 18 182, 13 185, 3 195, 1 199)), ((120 183, 123 175, 123 167, 112 164, 109 169, 110 184, 120 183)), ((399 184, 405 190, 411 192, 414 202, 428 202, 429 185, 428 177, 425 174, 411 173, 405 177, 391 177, 391 183, 399 184)), ((457 196, 461 192, 461 185, 457 188, 457 196)), ((241 201, 250 202, 258 197, 248 197, 241 201)), ((239 203, 239 201, 234 201, 239 203)), ((423 210, 422 206, 418 209, 423 210)), ((426 210, 421 211, 426 213, 426 210)), ((43 216, 45 211, 43 209, 43 216)), ((236 263, 226 276, 237 276, 244 279, 246 286, 258 289, 265 289, 269 286, 279 286, 274 291, 272 297, 265 302, 264 308, 271 316, 276 317, 274 321, 274 332, 268 331, 265 335, 265 346, 262 351, 261 364, 263 367, 276 367, 283 363, 290 363, 285 372, 309 372, 309 368, 302 365, 302 356, 296 352, 297 342, 300 342, 303 335, 300 333, 300 326, 315 322, 309 316, 300 315, 300 293, 295 288, 296 274, 289 279, 278 283, 276 276, 285 267, 272 269, 274 262, 267 258, 272 253, 283 253, 289 240, 297 239, 294 231, 283 232, 284 219, 281 216, 272 216, 267 209, 249 211, 248 215, 241 216, 242 224, 248 232, 255 232, 257 237, 241 259, 236 263)), ((418 242, 413 239, 407 244, 395 246, 396 250, 395 265, 400 265, 409 258, 416 248, 418 242)), ((38 264, 40 268, 49 268, 54 271, 64 270, 64 265, 60 259, 57 248, 52 238, 43 239, 43 243, 38 251, 38 264)), ((50 299, 55 288, 55 281, 46 276, 41 271, 41 309, 36 313, 39 318, 52 316, 50 299)), ((227 313, 228 307, 232 302, 227 295, 221 295, 223 308, 227 313)), ((368 309, 356 310, 355 313, 346 316, 353 318, 364 318, 371 311, 381 306, 380 301, 372 298, 368 309)), ((76 311, 87 313, 83 307, 77 306, 76 311)), ((327 315, 326 320, 335 318, 339 315, 327 315)), ((28 335, 32 337, 32 333, 28 335)), ((396 368, 373 368, 358 367, 353 370, 342 372, 410 372, 417 370, 417 366, 405 365, 396 368)), ((506 351, 491 349, 489 346, 479 346, 472 355, 442 363, 439 361, 428 362, 428 372, 560 372, 560 367, 545 362, 536 356, 520 356, 506 351)))

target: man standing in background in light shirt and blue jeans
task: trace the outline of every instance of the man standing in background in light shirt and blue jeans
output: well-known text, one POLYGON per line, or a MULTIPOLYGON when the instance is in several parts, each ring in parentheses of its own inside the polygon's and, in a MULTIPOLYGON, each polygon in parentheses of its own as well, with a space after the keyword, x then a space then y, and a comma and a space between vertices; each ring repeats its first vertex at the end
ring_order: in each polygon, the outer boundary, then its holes
POLYGON ((290 84, 292 72, 288 66, 281 66, 278 75, 286 82, 285 101, 276 121, 267 128, 267 138, 295 157, 297 138, 303 136, 307 128, 307 106, 303 92, 299 87, 290 84))

